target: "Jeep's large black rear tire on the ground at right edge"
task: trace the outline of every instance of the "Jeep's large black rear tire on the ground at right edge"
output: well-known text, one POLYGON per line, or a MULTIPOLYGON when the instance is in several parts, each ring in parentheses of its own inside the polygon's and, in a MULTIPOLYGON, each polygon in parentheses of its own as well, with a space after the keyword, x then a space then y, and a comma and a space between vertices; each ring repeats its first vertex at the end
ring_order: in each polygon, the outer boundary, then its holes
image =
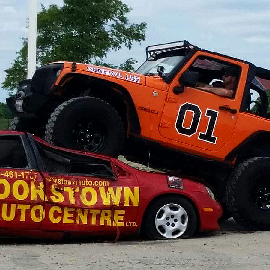
POLYGON ((269 157, 251 158, 238 165, 226 189, 226 202, 232 217, 246 229, 269 230, 269 192, 269 157))

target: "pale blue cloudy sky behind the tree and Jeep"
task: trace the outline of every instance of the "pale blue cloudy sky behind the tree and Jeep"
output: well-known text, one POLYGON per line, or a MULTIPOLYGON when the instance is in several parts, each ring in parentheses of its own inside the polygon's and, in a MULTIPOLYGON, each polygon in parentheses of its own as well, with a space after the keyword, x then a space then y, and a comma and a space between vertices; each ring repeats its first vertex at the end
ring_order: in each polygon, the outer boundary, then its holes
MULTIPOLYGON (((130 23, 147 23, 146 40, 131 50, 108 53, 104 62, 121 64, 128 58, 146 59, 149 45, 187 40, 202 49, 219 52, 270 69, 269 0, 122 0, 132 7, 130 23)), ((63 5, 63 0, 38 0, 63 5)), ((22 48, 20 37, 28 36, 29 0, 0 0, 0 102, 7 91, 1 88, 5 69, 12 66, 22 48)))

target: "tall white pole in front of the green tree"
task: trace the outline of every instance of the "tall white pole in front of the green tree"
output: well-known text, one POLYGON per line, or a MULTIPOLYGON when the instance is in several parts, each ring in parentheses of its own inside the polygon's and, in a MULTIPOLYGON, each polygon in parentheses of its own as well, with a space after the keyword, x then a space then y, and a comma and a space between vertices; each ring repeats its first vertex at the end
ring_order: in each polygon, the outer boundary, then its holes
POLYGON ((29 0, 29 29, 28 29, 28 69, 27 79, 32 79, 36 70, 37 51, 37 0, 29 0))

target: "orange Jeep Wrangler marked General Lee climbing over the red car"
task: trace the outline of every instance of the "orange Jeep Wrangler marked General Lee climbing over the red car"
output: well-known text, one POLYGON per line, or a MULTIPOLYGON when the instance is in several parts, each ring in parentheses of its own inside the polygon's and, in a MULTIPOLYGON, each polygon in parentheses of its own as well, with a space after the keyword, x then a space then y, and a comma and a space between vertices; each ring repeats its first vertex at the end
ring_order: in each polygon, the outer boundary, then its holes
POLYGON ((135 73, 46 64, 7 104, 10 130, 202 178, 240 224, 269 229, 267 88, 269 70, 178 41, 147 47, 135 73))

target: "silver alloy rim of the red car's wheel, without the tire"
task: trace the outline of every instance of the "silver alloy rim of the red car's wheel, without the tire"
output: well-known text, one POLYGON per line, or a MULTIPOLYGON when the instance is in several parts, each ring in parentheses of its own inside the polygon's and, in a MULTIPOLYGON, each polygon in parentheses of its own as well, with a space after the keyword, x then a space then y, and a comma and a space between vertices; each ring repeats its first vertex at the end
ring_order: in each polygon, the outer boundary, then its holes
POLYGON ((187 223, 187 211, 175 203, 162 206, 155 217, 157 231, 168 239, 177 238, 184 234, 187 223))

